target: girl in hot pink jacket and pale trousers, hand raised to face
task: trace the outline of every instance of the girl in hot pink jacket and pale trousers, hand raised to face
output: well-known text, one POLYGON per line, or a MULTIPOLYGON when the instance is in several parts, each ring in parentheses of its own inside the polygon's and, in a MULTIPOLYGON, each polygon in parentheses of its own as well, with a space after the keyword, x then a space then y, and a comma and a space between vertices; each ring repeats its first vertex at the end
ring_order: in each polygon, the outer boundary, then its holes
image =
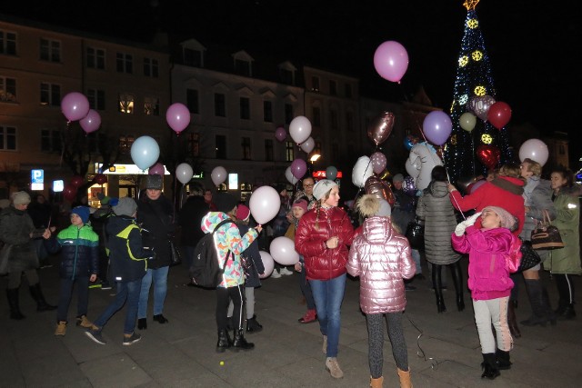
POLYGON ((513 347, 507 324, 507 304, 513 288, 509 278, 507 255, 512 244, 519 244, 512 234, 517 220, 498 206, 486 206, 457 225, 452 235, 453 248, 469 254, 468 286, 473 298, 475 323, 483 353, 483 374, 490 380, 499 375, 499 369, 509 369, 509 351, 513 347), (473 224, 481 216, 481 229, 473 224), (491 330, 495 327, 496 335, 491 330), (497 349, 496 349, 497 338, 497 349))

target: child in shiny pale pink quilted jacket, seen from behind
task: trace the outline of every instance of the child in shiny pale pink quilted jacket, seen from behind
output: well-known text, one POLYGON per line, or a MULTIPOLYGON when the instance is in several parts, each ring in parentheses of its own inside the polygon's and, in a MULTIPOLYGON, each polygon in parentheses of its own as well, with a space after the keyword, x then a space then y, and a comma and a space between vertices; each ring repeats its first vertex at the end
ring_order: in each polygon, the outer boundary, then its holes
POLYGON ((392 227, 390 205, 372 194, 362 195, 357 208, 366 221, 349 250, 347 273, 360 277, 360 307, 366 314, 370 386, 381 387, 384 363, 384 314, 402 387, 411 387, 402 313, 406 308, 404 280, 416 273, 410 244, 392 227))

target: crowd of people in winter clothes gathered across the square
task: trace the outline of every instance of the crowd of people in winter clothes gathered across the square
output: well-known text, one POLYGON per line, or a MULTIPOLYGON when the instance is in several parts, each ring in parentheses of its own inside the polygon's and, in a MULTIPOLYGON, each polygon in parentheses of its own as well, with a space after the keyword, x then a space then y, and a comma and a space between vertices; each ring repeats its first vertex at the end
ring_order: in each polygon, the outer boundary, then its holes
MULTIPOLYGON (((383 384, 384 324, 392 344, 401 386, 412 386, 402 317, 406 292, 414 292, 413 280, 424 280, 423 265, 434 290, 437 313, 446 313, 444 290, 447 267, 455 287, 457 312, 466 310, 468 285, 477 335, 483 355, 483 378, 495 379, 511 367, 509 353, 521 336, 517 323, 518 285, 525 284, 532 314, 523 325, 546 326, 575 319, 572 276, 582 274, 579 256, 579 199, 574 176, 555 168, 542 178, 542 166, 525 159, 504 164, 473 189, 448 181, 446 167, 437 165, 425 190, 403 189, 405 175, 392 178, 394 203, 377 194, 358 193, 353 206, 341 206, 336 181, 307 176, 297 184, 273 184, 280 206, 268 224, 256 224, 247 203, 233 194, 217 193, 191 185, 184 204, 175 206, 163 193, 161 175, 146 176, 136 199, 101 195, 101 207, 85 204, 72 208, 70 224, 55 233, 50 206, 43 195, 24 191, 12 194, 0 214, 0 273, 8 274, 6 295, 10 318, 25 319, 20 310, 19 288, 26 279, 37 311, 56 312, 55 335, 64 336, 68 309, 76 287, 77 326, 95 343, 105 344, 107 321, 125 305, 123 344, 141 339, 147 329, 149 295, 153 293, 152 320, 169 323, 164 315, 171 244, 178 242, 187 272, 195 260, 195 248, 212 233, 224 274, 216 287, 216 352, 250 351, 254 343, 246 334, 259 333, 255 311, 256 288, 267 276, 276 279, 294 274, 275 264, 266 274, 260 251, 268 251, 274 238, 285 235, 295 242, 298 291, 306 313, 299 323, 318 323, 322 335, 325 368, 334 378, 344 373, 338 361, 341 306, 346 276, 359 277, 360 307, 366 315, 370 386, 383 384), (300 186, 300 188, 299 188, 300 186), (30 204, 30 205, 29 205, 30 204), (547 218, 557 226, 565 247, 538 250, 542 263, 523 273, 511 273, 507 257, 527 241, 536 224, 547 218), (425 246, 412 249, 406 227, 413 220, 424 224, 425 246), (49 254, 59 253, 61 287, 58 305, 45 301, 37 269, 49 254), (426 264, 423 264, 423 259, 426 264), (462 262, 468 259, 464 274, 462 262), (539 272, 555 279, 557 309, 552 309, 547 287, 539 272), (23 276, 23 274, 25 276, 23 276), (467 275, 467 283, 464 281, 467 275), (89 316, 91 284, 103 289, 115 284, 115 298, 92 322, 89 316), (152 290, 153 289, 153 290, 152 290), (232 334, 232 335, 231 335, 232 334)), ((193 279, 188 286, 197 286, 193 279)))

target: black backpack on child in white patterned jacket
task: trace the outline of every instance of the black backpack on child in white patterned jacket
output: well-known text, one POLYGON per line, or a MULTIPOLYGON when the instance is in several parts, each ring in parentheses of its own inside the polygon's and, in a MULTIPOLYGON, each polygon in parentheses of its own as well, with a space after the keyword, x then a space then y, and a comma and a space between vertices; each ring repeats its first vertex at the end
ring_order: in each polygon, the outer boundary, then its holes
POLYGON ((194 261, 190 266, 190 277, 196 285, 205 288, 216 288, 222 282, 222 275, 225 273, 224 268, 226 267, 228 256, 230 256, 230 251, 226 254, 225 263, 221 268, 218 263, 214 234, 220 226, 227 223, 232 223, 232 220, 225 220, 217 224, 212 233, 205 234, 196 244, 194 261))

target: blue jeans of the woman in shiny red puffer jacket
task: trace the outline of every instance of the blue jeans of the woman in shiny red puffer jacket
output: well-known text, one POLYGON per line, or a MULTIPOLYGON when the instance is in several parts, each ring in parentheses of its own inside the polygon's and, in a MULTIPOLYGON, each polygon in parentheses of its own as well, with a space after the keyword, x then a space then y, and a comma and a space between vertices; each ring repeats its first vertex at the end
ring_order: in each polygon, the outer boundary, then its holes
POLYGON ((336 357, 346 274, 330 280, 310 280, 309 285, 316 301, 319 330, 327 336, 327 357, 336 357))

